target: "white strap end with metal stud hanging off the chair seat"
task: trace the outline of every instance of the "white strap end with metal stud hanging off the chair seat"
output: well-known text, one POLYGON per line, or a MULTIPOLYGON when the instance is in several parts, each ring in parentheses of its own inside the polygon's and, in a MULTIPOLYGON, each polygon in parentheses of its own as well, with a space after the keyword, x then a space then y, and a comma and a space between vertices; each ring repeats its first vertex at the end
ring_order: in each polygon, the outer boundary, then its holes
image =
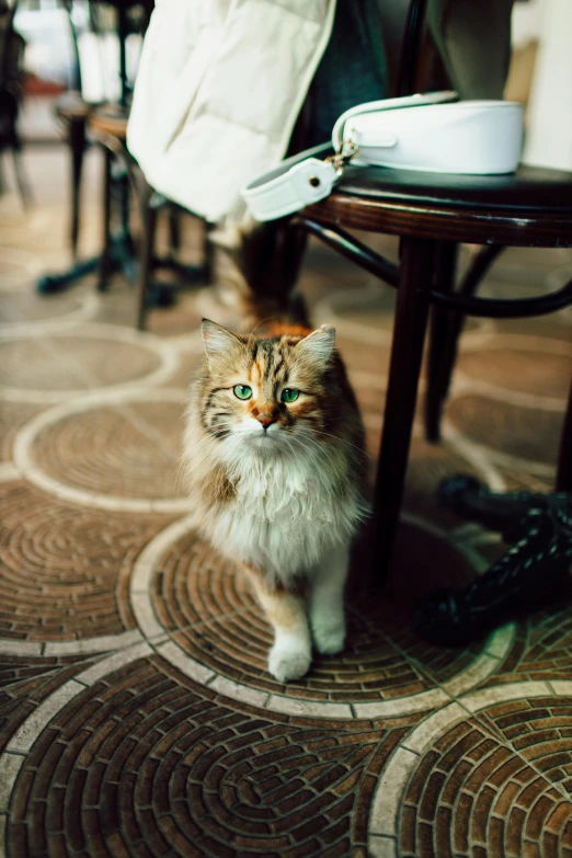
POLYGON ((330 144, 322 144, 259 175, 242 190, 251 214, 256 220, 275 220, 325 199, 339 175, 335 167, 319 156, 331 153, 330 144))

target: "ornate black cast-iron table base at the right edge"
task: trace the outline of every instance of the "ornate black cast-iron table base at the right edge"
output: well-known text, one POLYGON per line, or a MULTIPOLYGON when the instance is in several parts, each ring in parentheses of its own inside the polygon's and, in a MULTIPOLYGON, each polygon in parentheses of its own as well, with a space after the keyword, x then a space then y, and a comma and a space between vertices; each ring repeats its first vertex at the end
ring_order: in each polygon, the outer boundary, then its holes
POLYGON ((494 494, 474 478, 459 474, 442 482, 438 497, 457 514, 500 530, 512 547, 468 587, 425 596, 412 615, 420 637, 465 645, 527 609, 569 595, 571 494, 494 494))

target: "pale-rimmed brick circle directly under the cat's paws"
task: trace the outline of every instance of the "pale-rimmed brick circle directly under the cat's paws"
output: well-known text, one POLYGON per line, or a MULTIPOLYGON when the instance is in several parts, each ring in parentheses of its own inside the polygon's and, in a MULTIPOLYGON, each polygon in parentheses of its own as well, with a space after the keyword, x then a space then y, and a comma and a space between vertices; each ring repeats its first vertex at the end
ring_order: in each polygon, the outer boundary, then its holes
MULTIPOLYGON (((424 539, 423 553, 434 559, 437 540, 424 539)), ((462 563, 451 546, 438 550, 444 565, 462 563)), ((341 655, 316 655, 306 677, 278 683, 267 672, 272 629, 243 573, 201 539, 192 518, 171 525, 148 546, 130 593, 140 631, 149 639, 168 631, 176 644, 165 657, 234 699, 286 713, 353 719, 423 711, 448 702, 448 684, 458 694, 485 678, 512 645, 508 628, 496 632, 494 645, 443 651, 413 636, 407 605, 366 599, 350 604, 341 655)))

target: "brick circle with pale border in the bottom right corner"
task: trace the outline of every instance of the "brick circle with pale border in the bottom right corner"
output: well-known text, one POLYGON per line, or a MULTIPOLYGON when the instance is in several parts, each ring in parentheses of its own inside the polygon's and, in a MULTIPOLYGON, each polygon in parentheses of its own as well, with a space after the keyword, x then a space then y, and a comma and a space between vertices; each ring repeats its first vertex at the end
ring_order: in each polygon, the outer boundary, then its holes
POLYGON ((373 854, 568 854, 572 698, 554 696, 558 690, 508 684, 492 696, 461 697, 422 721, 381 773, 369 825, 373 854), (386 796, 382 783, 392 785, 386 796))

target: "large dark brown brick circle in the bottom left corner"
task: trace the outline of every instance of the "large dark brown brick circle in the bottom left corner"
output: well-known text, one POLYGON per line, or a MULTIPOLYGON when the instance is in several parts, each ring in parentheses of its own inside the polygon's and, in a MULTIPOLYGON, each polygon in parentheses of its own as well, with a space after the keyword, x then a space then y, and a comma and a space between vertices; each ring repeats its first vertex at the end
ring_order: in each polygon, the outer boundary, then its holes
POLYGON ((350 854, 367 814, 355 786, 384 730, 252 718, 152 662, 68 683, 23 762, 16 734, 9 858, 350 854))

